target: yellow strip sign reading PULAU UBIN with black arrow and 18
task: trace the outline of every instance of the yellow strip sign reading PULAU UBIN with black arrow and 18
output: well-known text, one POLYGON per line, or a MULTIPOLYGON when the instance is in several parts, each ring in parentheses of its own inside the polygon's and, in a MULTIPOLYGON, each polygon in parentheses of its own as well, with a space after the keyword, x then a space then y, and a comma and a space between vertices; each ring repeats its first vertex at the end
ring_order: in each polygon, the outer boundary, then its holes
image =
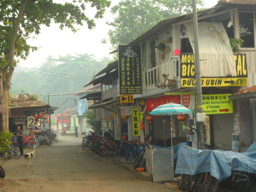
MULTIPOLYGON (((219 78, 201 78, 202 87, 232 87, 232 86, 248 86, 248 78, 246 77, 219 77, 219 78)), ((195 87, 196 80, 192 78, 181 79, 182 87, 195 87)))

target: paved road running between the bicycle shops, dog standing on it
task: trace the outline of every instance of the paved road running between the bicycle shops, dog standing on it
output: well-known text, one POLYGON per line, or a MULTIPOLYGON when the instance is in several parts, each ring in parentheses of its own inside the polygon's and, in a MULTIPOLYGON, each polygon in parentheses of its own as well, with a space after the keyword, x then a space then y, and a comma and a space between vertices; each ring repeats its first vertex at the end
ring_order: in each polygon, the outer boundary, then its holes
MULTIPOLYGON (((52 147, 40 146, 35 151, 35 166, 28 167, 23 157, 8 160, 3 166, 6 178, 12 180, 4 180, 4 187, 0 188, 0 191, 178 191, 168 185, 138 180, 134 172, 77 146, 81 144, 81 140, 71 136, 60 136, 59 142, 54 142, 52 147)), ((26 149, 25 153, 30 151, 26 149)))

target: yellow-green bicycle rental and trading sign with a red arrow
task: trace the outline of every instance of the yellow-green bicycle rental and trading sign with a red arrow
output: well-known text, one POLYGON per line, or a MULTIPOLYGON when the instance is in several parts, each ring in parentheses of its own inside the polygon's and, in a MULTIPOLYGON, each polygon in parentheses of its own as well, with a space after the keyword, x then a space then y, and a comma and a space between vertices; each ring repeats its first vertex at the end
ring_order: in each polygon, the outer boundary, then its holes
POLYGON ((233 102, 228 96, 231 94, 203 95, 203 110, 205 114, 233 113, 233 102))

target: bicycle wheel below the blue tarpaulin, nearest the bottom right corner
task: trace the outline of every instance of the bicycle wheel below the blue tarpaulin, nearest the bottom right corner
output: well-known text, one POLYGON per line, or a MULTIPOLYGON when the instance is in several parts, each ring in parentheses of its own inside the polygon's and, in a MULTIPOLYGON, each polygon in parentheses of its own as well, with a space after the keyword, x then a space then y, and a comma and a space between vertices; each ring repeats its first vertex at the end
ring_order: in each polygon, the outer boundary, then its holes
POLYGON ((240 189, 240 191, 249 191, 255 181, 255 176, 252 173, 249 172, 242 172, 241 174, 238 175, 238 182, 237 186, 240 189), (242 180, 242 181, 239 181, 242 180))

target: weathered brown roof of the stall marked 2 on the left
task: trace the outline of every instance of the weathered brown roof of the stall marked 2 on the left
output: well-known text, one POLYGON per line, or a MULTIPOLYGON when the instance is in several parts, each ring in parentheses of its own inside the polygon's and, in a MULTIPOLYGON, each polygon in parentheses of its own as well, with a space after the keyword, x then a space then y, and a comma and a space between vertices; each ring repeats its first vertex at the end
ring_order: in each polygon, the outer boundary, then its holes
POLYGON ((34 94, 11 94, 11 106, 46 106, 46 104, 34 94))

